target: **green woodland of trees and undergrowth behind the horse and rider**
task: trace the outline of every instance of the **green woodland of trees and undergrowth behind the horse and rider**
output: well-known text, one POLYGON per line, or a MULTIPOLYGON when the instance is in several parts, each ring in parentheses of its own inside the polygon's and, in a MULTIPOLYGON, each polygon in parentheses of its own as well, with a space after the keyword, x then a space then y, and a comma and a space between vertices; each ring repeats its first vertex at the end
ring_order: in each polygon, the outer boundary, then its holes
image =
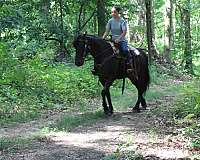
MULTIPOLYGON (((123 8, 129 44, 149 50, 152 85, 187 82, 175 117, 197 120, 200 131, 199 0, 0 0, 1 126, 100 97, 92 59, 76 67, 72 41, 80 29, 101 36, 113 5, 123 8)), ((193 144, 200 148, 198 136, 193 144)))

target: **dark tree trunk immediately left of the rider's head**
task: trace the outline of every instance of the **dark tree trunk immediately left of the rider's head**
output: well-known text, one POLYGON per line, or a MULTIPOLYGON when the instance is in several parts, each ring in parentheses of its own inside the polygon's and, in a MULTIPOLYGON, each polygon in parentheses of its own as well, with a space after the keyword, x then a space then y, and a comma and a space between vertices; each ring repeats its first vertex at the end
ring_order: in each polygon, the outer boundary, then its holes
POLYGON ((105 0, 97 0, 98 35, 102 36, 106 27, 105 0))

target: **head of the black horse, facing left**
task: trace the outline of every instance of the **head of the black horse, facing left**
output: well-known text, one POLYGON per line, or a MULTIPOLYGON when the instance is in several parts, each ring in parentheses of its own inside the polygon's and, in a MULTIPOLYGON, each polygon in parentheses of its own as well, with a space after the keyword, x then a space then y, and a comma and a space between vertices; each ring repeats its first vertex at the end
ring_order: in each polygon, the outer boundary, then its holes
POLYGON ((76 49, 75 65, 82 66, 84 64, 85 57, 87 56, 87 44, 88 40, 86 35, 78 35, 73 42, 73 46, 76 49))

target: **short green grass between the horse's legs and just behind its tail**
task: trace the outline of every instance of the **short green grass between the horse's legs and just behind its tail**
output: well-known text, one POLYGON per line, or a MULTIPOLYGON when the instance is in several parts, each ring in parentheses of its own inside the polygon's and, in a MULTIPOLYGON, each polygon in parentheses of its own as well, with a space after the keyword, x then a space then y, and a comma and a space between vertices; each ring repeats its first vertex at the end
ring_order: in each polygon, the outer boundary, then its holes
MULTIPOLYGON (((165 83, 165 85, 150 85, 150 88, 147 90, 145 95, 147 104, 148 101, 159 99, 166 95, 175 96, 176 94, 179 94, 183 88, 182 84, 167 84, 167 81, 165 81, 165 83)), ((114 109, 117 111, 127 110, 129 107, 133 107, 137 101, 137 90, 130 81, 127 81, 124 95, 121 94, 121 87, 119 82, 117 86, 111 87, 110 91, 114 109)))

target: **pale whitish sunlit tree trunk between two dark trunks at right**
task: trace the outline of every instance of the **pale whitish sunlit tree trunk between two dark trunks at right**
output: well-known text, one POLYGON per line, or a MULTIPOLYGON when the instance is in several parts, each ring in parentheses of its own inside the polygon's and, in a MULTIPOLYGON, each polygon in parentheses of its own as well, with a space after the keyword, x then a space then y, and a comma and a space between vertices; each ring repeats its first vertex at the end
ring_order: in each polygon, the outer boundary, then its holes
POLYGON ((173 39, 173 3, 172 0, 165 0, 165 31, 164 31, 164 57, 170 63, 171 62, 171 49, 172 49, 172 39, 173 39))

